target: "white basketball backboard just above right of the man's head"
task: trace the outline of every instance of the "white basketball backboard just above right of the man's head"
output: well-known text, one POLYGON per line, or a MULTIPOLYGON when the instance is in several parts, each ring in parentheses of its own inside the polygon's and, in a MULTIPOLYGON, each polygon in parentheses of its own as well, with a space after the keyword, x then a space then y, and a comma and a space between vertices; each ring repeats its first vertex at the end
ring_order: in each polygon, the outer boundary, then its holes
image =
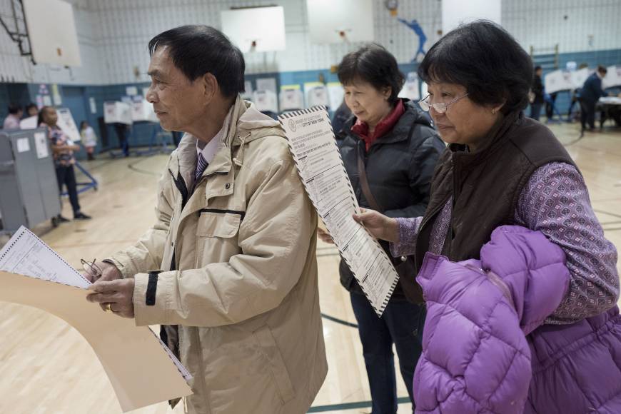
POLYGON ((243 53, 285 50, 285 11, 282 6, 222 11, 222 31, 243 53))

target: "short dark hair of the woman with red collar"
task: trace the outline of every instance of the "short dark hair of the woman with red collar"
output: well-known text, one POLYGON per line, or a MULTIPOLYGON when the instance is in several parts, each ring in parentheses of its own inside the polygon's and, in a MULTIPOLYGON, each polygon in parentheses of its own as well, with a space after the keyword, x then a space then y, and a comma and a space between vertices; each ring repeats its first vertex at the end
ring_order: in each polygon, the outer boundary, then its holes
POLYGON ((343 85, 364 81, 381 90, 390 87, 390 104, 397 101, 405 77, 399 70, 397 59, 379 44, 368 44, 346 54, 338 65, 338 80, 343 85))

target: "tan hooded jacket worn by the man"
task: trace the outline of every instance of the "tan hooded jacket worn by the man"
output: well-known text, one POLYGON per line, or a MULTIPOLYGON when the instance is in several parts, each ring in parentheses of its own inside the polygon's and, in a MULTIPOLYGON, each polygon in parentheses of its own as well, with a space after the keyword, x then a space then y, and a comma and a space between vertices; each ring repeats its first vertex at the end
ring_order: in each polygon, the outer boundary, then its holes
POLYGON ((179 325, 191 413, 306 413, 328 370, 317 215, 278 122, 238 98, 225 144, 182 208, 196 171, 196 138, 183 137, 155 226, 112 260, 136 279, 136 325, 179 325), (146 272, 171 268, 147 306, 146 272))

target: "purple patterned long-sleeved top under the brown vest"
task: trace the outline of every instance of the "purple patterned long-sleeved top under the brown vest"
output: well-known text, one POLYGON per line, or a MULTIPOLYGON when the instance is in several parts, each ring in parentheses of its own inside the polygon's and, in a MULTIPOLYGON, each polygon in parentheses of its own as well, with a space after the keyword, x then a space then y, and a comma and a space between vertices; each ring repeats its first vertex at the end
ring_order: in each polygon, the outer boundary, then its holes
MULTIPOLYGON (((439 254, 450 224, 452 200, 433 223, 429 250, 439 254)), ((413 254, 422 217, 397 218, 399 243, 393 256, 413 254)), ((518 225, 540 231, 565 251, 570 289, 546 323, 573 323, 611 308, 619 298, 617 250, 604 238, 580 173, 566 163, 537 168, 518 200, 518 225)))

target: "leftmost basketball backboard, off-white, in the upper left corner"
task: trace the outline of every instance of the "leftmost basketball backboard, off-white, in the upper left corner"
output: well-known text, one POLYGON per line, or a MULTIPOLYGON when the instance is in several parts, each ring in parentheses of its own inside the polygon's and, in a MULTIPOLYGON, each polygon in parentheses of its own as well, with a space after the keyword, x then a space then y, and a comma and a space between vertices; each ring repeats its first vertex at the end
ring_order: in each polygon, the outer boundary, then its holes
POLYGON ((23 0, 23 4, 34 61, 81 66, 73 6, 61 0, 23 0))

